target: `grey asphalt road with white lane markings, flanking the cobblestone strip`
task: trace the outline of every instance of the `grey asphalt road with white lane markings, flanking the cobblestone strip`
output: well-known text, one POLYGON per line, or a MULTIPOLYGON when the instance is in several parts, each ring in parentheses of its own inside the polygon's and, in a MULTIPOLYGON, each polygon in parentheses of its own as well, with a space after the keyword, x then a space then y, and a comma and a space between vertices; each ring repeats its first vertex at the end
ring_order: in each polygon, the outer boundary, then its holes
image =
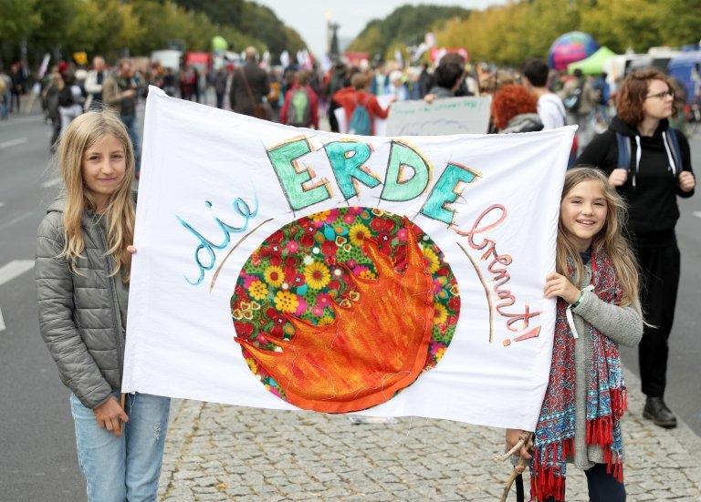
MULTIPOLYGON (((31 269, 38 223, 58 191, 49 136, 38 116, 0 121, 0 501, 83 499, 68 393, 38 335, 31 269)), ((701 140, 692 141, 692 150, 701 169, 701 140)), ((668 402, 701 435, 701 199, 680 205, 683 277, 668 402)), ((634 352, 623 359, 637 372, 634 352)))

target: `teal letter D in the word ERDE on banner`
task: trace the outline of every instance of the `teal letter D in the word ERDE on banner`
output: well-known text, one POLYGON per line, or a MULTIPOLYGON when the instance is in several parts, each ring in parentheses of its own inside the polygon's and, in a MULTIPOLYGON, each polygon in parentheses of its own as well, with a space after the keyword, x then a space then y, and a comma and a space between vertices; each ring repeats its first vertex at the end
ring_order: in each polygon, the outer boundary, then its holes
POLYGON ((429 167, 426 160, 413 148, 398 141, 392 141, 390 161, 382 189, 382 200, 412 200, 421 195, 428 185, 429 167), (413 169, 410 179, 400 181, 403 169, 413 169))

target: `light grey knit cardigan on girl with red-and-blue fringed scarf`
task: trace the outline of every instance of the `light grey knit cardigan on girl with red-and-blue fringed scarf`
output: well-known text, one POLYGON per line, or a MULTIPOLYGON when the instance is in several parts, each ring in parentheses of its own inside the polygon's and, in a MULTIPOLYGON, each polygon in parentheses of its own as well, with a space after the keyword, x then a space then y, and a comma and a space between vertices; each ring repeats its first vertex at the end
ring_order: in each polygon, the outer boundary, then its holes
MULTIPOLYGON (((581 287, 591 282, 591 262, 584 266, 581 287)), ((583 292, 581 303, 572 309, 574 325, 579 338, 575 341, 575 368, 577 383, 575 401, 577 404, 574 458, 570 461, 581 469, 589 469, 594 464, 603 464, 603 451, 599 446, 586 444, 587 389, 589 388, 589 370, 591 368, 591 340, 586 335, 585 323, 590 323, 597 330, 608 336, 616 345, 633 347, 643 336, 643 317, 632 306, 619 307, 601 300, 594 292, 583 292)))

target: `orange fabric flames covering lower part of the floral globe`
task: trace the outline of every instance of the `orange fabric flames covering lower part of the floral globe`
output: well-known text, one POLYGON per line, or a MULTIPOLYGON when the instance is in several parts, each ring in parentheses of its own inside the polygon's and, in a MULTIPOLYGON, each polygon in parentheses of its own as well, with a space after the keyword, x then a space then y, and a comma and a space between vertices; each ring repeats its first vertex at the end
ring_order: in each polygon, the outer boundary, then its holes
MULTIPOLYGON (((277 322, 293 330, 269 330, 258 339, 242 333, 235 337, 250 356, 247 361, 254 373, 259 369, 274 379, 289 403, 326 413, 366 409, 413 384, 426 368, 434 320, 443 314, 435 311, 443 307, 436 307, 430 263, 413 230, 418 228, 406 218, 400 221, 406 241, 403 266, 398 267, 369 236, 361 241, 375 272, 359 276, 347 263, 336 264, 337 275, 341 269, 345 272, 348 299, 330 302, 332 318, 326 323, 309 323, 292 307, 285 312, 286 305, 279 305, 283 312, 277 322)), ((271 273, 267 278, 272 283, 276 277, 271 273)), ((314 277, 309 276, 309 282, 318 287, 315 281, 323 282, 324 277, 314 277)), ((263 288, 262 284, 251 289, 263 288)), ((238 303, 238 312, 251 304, 260 309, 255 301, 242 304, 238 303)))

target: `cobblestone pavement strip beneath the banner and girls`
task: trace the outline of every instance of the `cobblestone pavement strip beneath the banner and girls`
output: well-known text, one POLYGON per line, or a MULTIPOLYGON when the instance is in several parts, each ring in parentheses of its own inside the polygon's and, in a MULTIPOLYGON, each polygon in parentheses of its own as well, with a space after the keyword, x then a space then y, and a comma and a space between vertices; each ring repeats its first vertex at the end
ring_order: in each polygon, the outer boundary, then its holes
MULTIPOLYGON (((668 431, 643 419, 640 383, 626 376, 628 500, 698 502, 701 440, 684 424, 668 431)), ((342 415, 173 400, 160 498, 498 500, 510 468, 493 460, 503 434, 446 420, 351 425, 342 415)), ((568 500, 587 500, 584 475, 572 466, 568 474, 568 500)))

